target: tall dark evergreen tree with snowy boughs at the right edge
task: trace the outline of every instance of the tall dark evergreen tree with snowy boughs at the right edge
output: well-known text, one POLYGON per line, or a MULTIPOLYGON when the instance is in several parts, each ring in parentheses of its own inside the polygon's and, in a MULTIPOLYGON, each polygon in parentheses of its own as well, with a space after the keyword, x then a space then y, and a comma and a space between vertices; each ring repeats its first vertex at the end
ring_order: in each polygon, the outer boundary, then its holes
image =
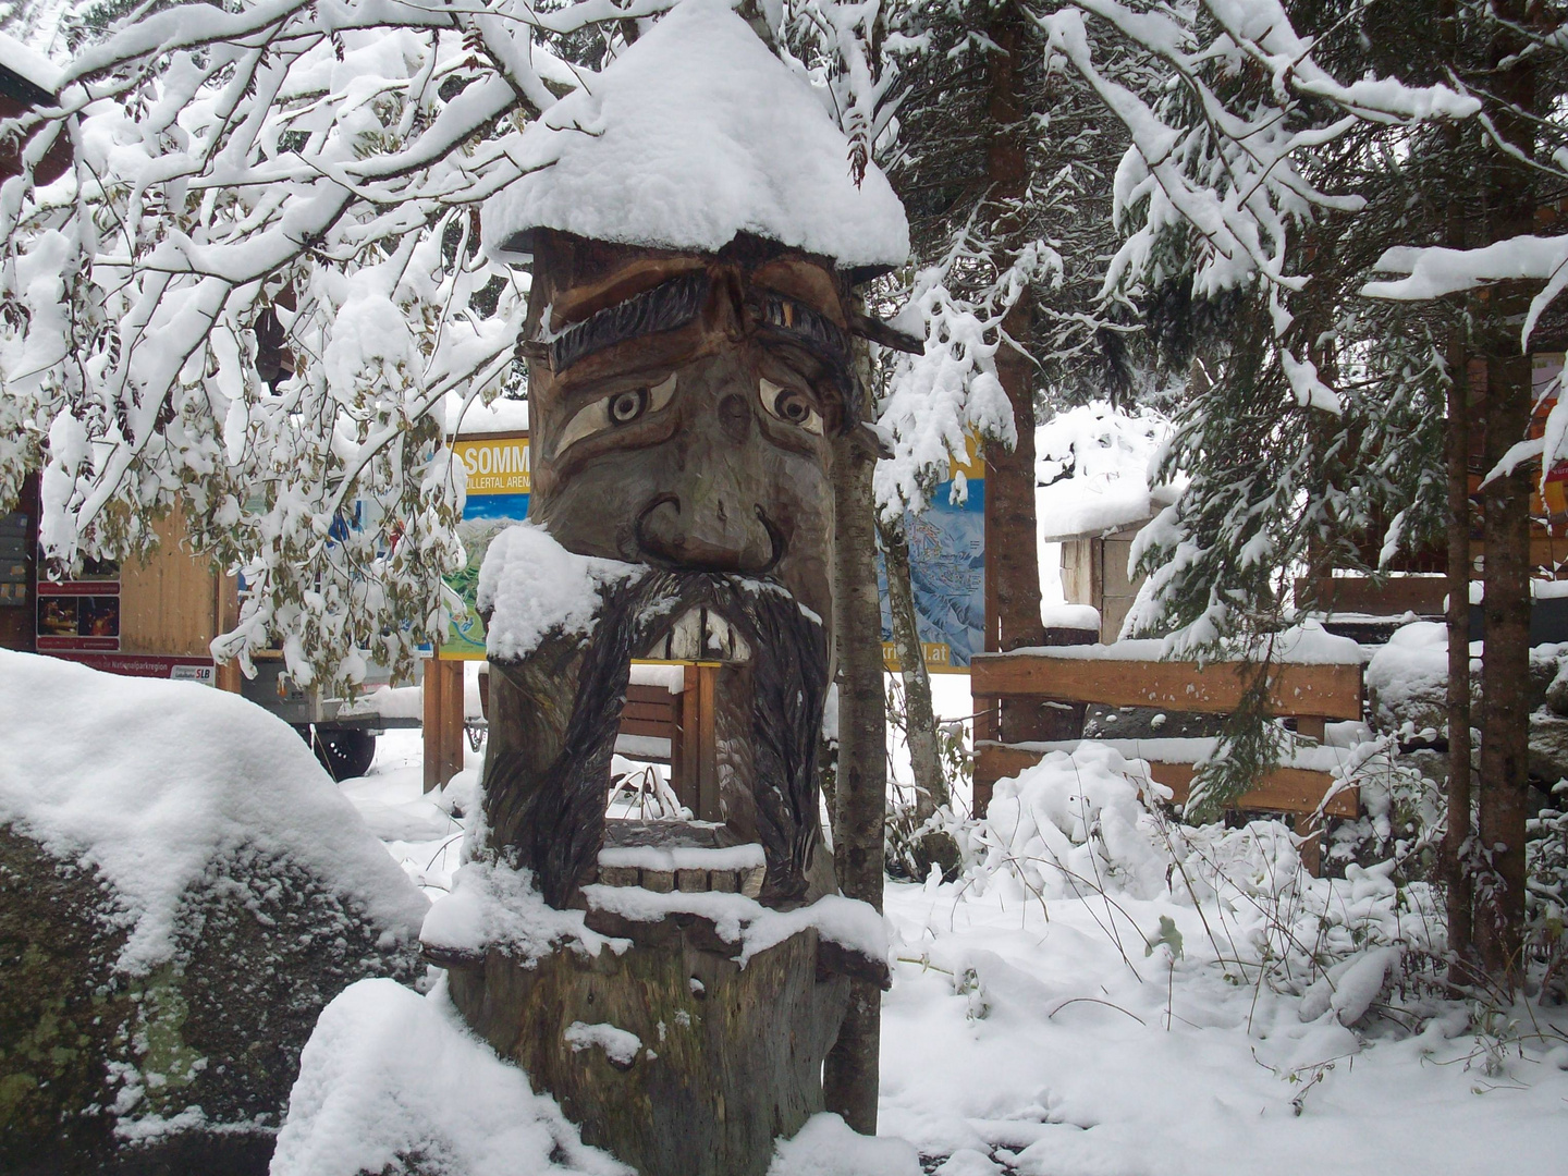
MULTIPOLYGON (((1087 77, 1105 36, 1171 74, 1146 94, 1094 83, 1134 136, 1116 198, 1132 235, 1112 285, 1173 287, 1218 328, 1198 348, 1206 364, 1167 455, 1193 477, 1146 535, 1140 619, 1174 626, 1185 648, 1267 632, 1283 604, 1279 569, 1345 555, 1356 566, 1350 549, 1367 533, 1381 539, 1367 563, 1386 564, 1447 516, 1450 931, 1463 952, 1474 914, 1482 966, 1516 983, 1530 563, 1530 474, 1519 463, 1549 466, 1568 423, 1560 411, 1540 442, 1524 439, 1530 340, 1568 287, 1565 238, 1548 227, 1568 193, 1568 14, 1530 0, 1074 9, 1046 27, 1087 77), (1483 384, 1471 386, 1472 358, 1485 362, 1483 384), (1486 455, 1474 836, 1471 425, 1486 455)), ((1223 800, 1256 757, 1207 773, 1195 798, 1207 789, 1223 800)))

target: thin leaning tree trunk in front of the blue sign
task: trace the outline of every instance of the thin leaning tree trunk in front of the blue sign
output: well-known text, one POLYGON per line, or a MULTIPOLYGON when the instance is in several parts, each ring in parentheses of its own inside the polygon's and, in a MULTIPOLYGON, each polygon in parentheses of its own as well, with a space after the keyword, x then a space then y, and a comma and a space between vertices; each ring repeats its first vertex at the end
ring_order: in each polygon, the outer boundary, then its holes
MULTIPOLYGON (((909 745, 909 767, 914 771, 914 820, 924 825, 949 803, 947 776, 936 740, 936 712, 931 706, 931 674, 916 624, 914 588, 909 582, 909 539, 903 524, 877 522, 883 558, 887 568, 887 610, 892 615, 892 643, 903 677, 905 740, 909 745)), ((916 869, 925 875, 935 862, 944 877, 958 870, 958 845, 946 833, 927 833, 911 847, 916 869)))

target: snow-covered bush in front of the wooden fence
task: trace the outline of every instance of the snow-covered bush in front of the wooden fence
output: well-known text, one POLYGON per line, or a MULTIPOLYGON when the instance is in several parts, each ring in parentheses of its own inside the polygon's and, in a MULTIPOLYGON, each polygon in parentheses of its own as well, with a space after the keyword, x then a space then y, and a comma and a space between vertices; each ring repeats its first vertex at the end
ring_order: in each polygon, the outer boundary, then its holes
MULTIPOLYGON (((1192 906, 1204 916, 1212 961, 1228 977, 1297 994, 1325 975, 1334 991, 1342 966, 1370 950, 1396 949, 1380 956, 1385 964, 1406 952, 1441 950, 1439 900, 1425 883, 1397 881, 1394 858, 1370 867, 1350 862, 1344 878, 1314 878, 1283 822, 1189 826, 1163 814, 1163 798, 1168 790, 1149 779, 1148 765, 1113 748, 1082 743, 1071 754, 1051 753, 997 781, 986 817, 966 826, 964 886, 977 897, 1000 891, 1040 903, 1047 916, 1052 903, 1104 902, 1102 927, 1118 942, 1129 906, 1192 906)), ((1132 944, 1154 950, 1163 925, 1132 922, 1132 944)), ((1380 986, 1402 978, 1386 966, 1380 986)), ((1334 1008, 1359 1010, 1356 1019, 1370 999, 1334 1008)))

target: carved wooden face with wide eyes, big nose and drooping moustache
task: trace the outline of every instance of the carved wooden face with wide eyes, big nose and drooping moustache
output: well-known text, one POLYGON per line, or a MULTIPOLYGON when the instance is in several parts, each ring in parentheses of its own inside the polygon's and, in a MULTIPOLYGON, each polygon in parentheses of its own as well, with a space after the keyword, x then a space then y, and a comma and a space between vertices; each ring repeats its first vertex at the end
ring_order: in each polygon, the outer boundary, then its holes
POLYGON ((717 659, 717 797, 698 815, 762 844, 764 902, 804 902, 831 884, 815 757, 829 437, 859 420, 845 287, 754 238, 673 254, 538 232, 532 248, 530 519, 568 550, 648 571, 605 590, 591 633, 492 662, 491 845, 547 902, 575 902, 604 837, 629 660, 717 659))

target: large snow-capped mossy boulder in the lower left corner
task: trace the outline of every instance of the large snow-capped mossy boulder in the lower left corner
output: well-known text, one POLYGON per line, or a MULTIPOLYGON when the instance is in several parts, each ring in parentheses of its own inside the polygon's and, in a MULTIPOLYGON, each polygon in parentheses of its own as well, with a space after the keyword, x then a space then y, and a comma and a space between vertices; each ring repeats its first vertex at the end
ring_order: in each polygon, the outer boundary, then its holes
POLYGON ((263 1171, 321 1007, 428 906, 292 728, 0 651, 0 1170, 263 1171))

